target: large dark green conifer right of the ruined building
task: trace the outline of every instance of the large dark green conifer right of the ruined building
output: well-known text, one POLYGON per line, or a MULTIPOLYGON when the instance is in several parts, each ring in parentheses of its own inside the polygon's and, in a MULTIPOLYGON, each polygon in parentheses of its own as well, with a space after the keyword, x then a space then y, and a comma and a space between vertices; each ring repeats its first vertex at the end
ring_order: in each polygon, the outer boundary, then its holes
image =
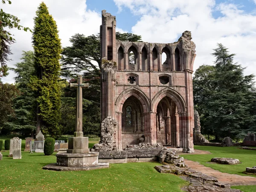
POLYGON ((217 140, 239 139, 256 120, 251 111, 256 99, 254 75, 244 76, 245 68, 233 63, 235 54, 222 44, 212 55, 215 66, 199 67, 193 78, 195 108, 203 116, 203 130, 212 130, 217 140))

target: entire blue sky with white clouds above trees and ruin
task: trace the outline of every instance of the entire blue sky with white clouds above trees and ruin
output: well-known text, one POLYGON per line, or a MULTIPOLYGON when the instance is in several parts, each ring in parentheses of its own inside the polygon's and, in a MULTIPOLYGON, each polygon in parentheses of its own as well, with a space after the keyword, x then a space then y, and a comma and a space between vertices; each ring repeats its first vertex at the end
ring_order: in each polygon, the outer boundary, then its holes
MULTIPOLYGON (((1 5, 4 12, 17 16, 20 24, 33 29, 33 17, 41 0, 12 0, 1 5)), ((172 43, 182 32, 192 32, 196 44, 194 70, 212 64, 210 55, 217 43, 236 53, 234 60, 247 67, 245 74, 256 75, 256 0, 44 0, 56 20, 62 47, 70 45, 76 34, 97 34, 101 11, 116 16, 117 30, 142 35, 143 41, 172 43)), ((30 32, 12 29, 13 61, 20 61, 22 51, 32 50, 30 32)), ((2 79, 13 83, 13 74, 2 79)))

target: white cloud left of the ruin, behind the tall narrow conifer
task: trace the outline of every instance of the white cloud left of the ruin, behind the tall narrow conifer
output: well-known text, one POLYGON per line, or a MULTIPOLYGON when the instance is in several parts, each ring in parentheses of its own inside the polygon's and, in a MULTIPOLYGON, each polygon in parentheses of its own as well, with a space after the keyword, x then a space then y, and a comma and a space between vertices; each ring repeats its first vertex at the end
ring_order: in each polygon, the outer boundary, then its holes
MULTIPOLYGON (((20 19, 20 25, 33 29, 35 12, 41 3, 41 0, 12 0, 12 4, 1 6, 4 12, 17 16, 20 19)), ((49 13, 57 23, 59 37, 61 38, 62 47, 70 45, 69 38, 76 33, 84 35, 96 34, 99 32, 101 25, 101 15, 97 12, 87 9, 86 0, 44 0, 49 8, 49 13)), ((13 61, 8 63, 9 67, 19 62, 22 51, 32 50, 31 32, 18 31, 11 29, 10 32, 15 34, 16 43, 11 49, 14 53, 10 55, 13 61)), ((10 75, 2 78, 3 82, 13 83, 15 75, 9 71, 10 75)))

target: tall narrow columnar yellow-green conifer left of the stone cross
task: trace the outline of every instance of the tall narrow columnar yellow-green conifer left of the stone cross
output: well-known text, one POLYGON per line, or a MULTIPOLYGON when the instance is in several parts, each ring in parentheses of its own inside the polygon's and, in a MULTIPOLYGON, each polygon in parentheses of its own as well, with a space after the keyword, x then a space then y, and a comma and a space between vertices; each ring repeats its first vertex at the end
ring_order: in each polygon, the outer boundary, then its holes
POLYGON ((35 52, 35 73, 30 86, 37 91, 37 128, 44 126, 52 137, 60 131, 61 85, 60 76, 61 42, 58 29, 45 3, 41 3, 34 18, 32 43, 35 52))

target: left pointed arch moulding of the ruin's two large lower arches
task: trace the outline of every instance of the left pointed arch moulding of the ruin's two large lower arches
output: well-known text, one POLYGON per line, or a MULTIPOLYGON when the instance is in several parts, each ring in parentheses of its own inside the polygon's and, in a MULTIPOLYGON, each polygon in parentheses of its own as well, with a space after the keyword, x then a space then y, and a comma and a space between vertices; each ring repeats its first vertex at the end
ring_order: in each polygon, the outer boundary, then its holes
POLYGON ((143 112, 149 112, 150 102, 148 97, 145 95, 145 93, 143 93, 142 90, 136 87, 129 87, 122 91, 122 93, 118 96, 115 103, 117 112, 122 112, 122 106, 126 99, 128 99, 130 96, 134 96, 140 101, 143 107, 143 112))

